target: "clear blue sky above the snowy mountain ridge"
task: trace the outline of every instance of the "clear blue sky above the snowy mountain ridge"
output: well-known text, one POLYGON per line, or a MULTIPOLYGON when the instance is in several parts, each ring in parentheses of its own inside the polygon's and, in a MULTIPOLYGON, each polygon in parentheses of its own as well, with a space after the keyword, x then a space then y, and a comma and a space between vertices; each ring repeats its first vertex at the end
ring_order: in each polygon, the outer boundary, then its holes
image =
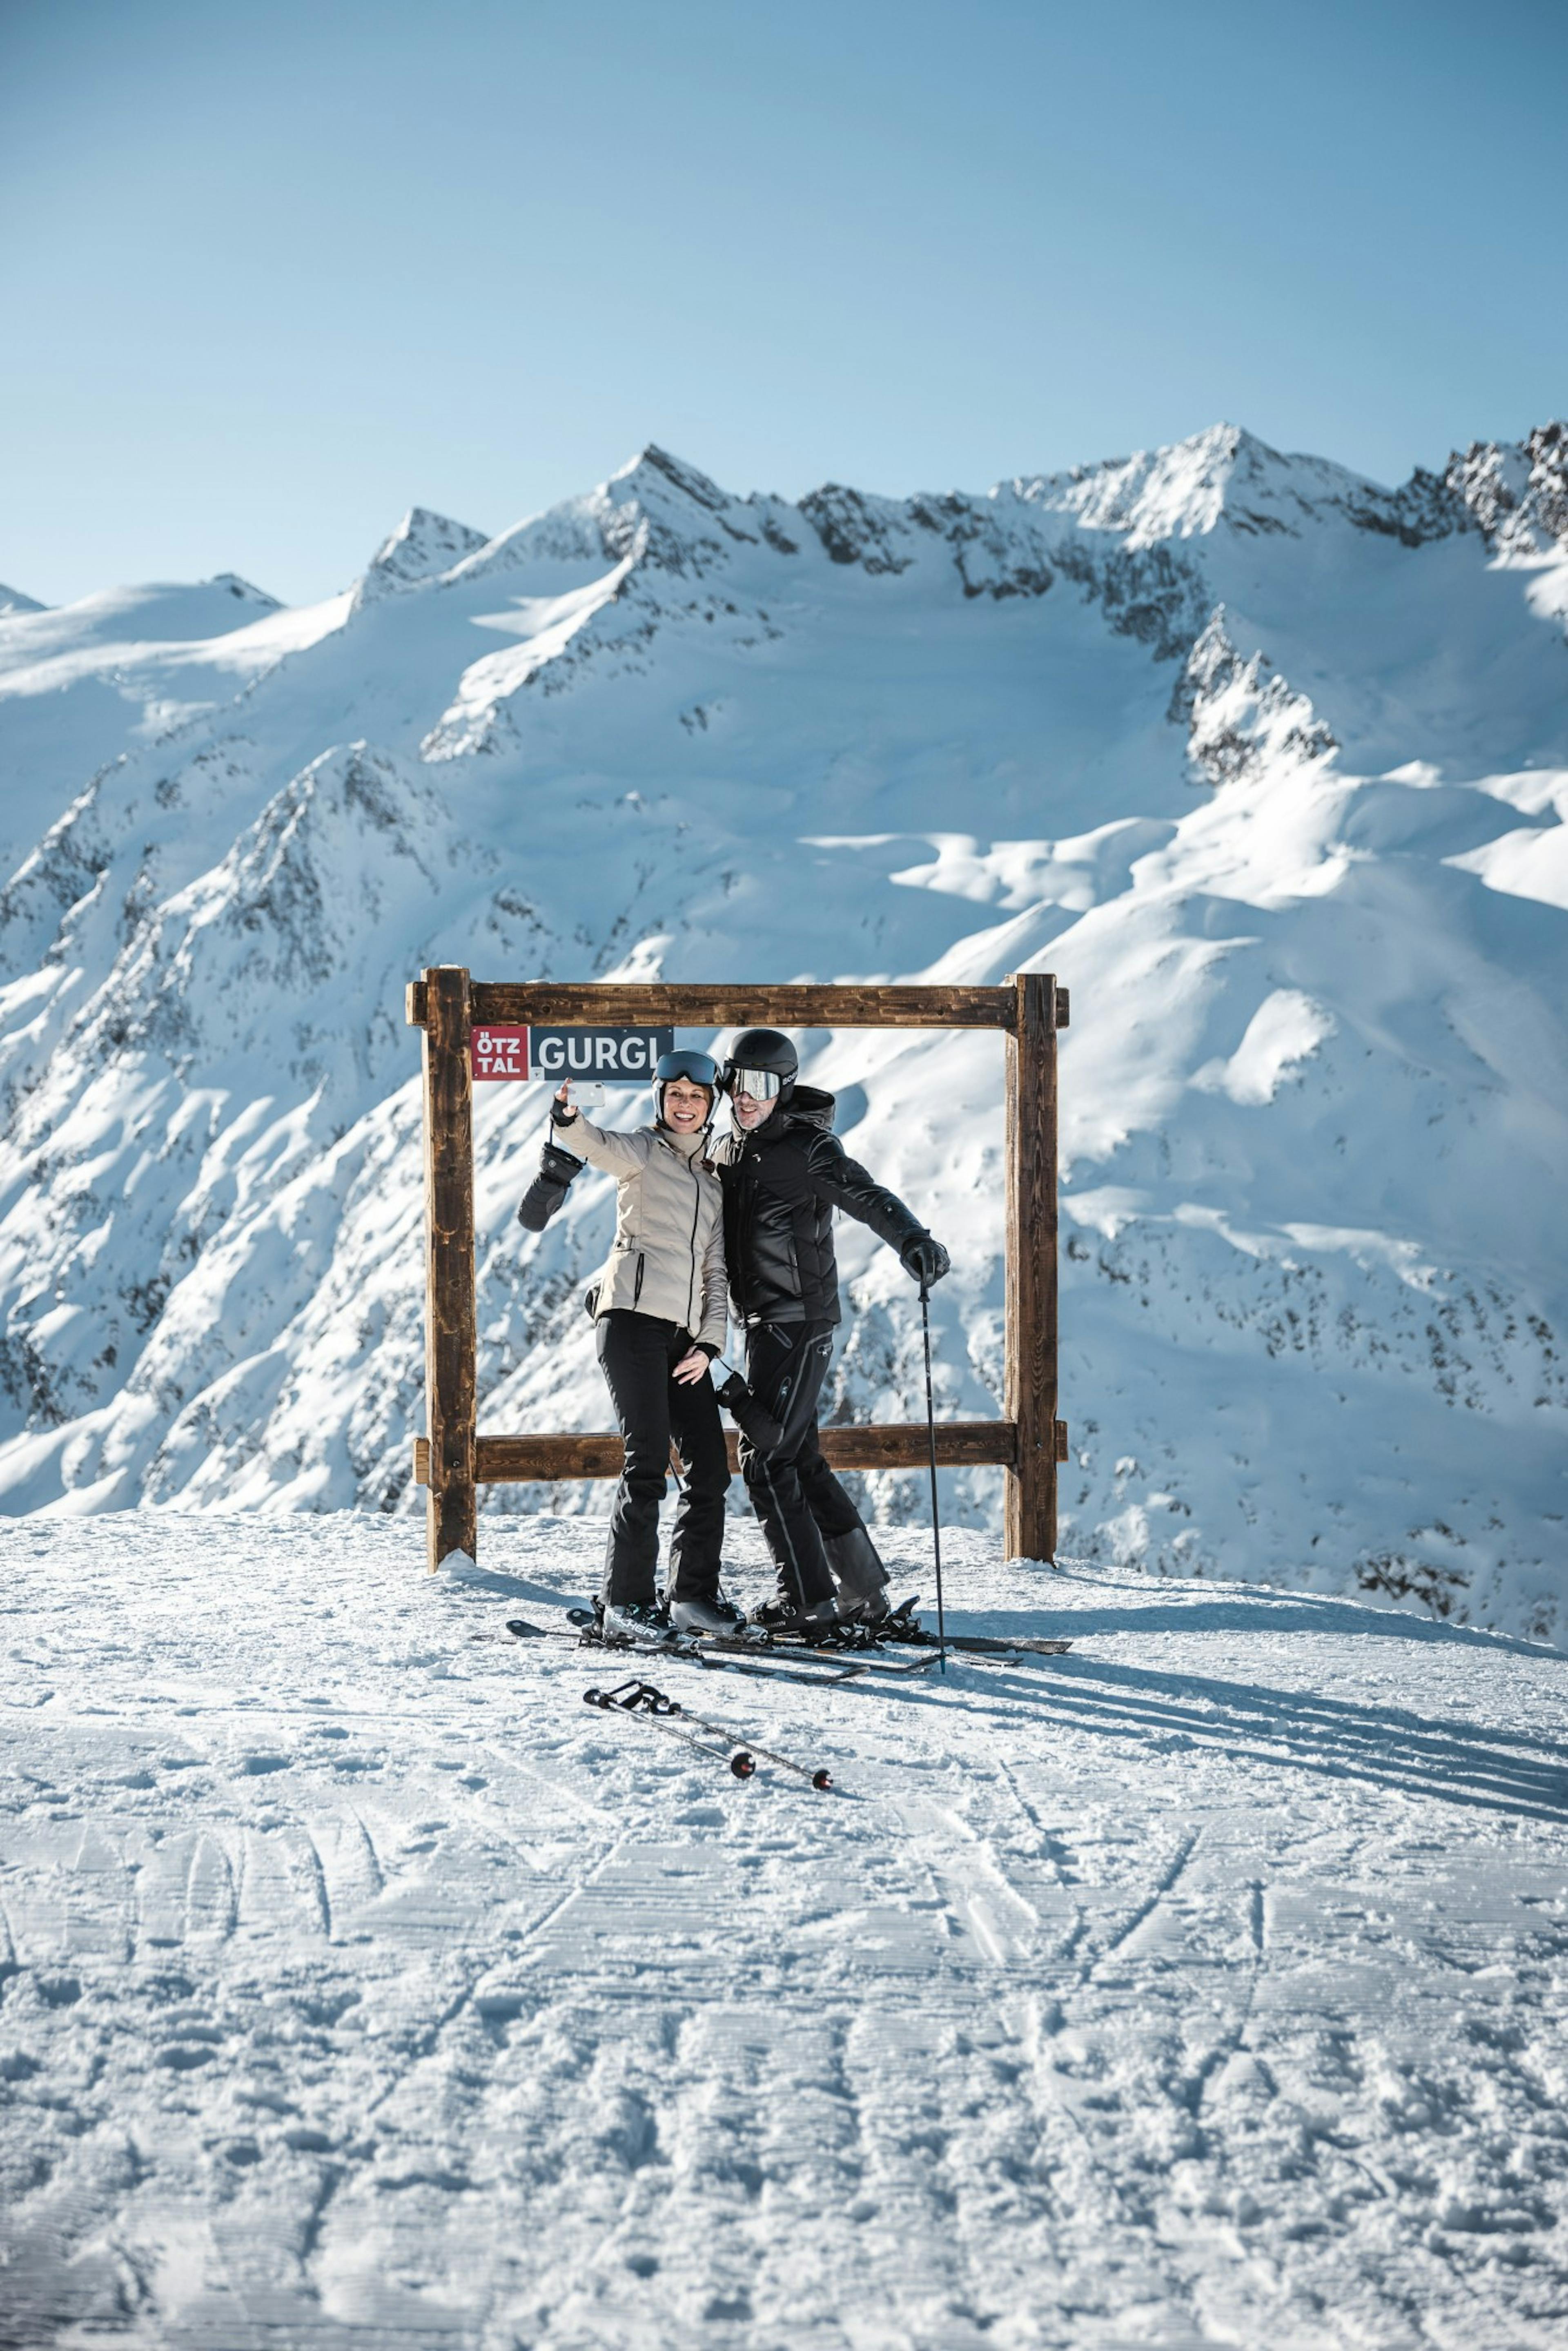
POLYGON ((1568 411, 1568 5, 0 0, 0 581, 1568 411))

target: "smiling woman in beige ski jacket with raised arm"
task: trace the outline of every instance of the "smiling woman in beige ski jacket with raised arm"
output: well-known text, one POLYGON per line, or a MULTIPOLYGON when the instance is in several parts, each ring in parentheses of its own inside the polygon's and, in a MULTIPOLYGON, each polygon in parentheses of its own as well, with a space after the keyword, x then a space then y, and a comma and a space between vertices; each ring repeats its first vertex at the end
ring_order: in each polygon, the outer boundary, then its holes
POLYGON ((550 1105, 562 1150, 616 1178, 616 1239, 590 1291, 599 1368, 621 1422, 625 1467, 609 1514, 604 1632, 663 1646, 675 1632, 745 1622, 719 1594, 729 1455, 708 1366, 724 1349, 724 1201, 708 1166, 717 1070, 708 1053, 665 1053, 654 1126, 607 1133, 550 1105), (658 1599, 658 1505, 670 1439, 686 1472, 670 1531, 668 1606, 658 1599))

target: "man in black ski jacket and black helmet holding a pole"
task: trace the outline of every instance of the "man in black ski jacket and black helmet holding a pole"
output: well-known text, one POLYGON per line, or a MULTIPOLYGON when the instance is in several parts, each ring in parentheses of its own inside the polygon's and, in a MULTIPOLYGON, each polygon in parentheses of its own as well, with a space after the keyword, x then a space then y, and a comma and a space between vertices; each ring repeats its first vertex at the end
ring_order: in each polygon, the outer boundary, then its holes
POLYGON ((839 1321, 832 1211, 870 1225, 926 1288, 947 1251, 832 1133, 832 1096, 799 1086, 778 1030, 736 1037, 719 1086, 736 1131, 715 1147, 724 1185, 724 1262, 745 1328, 745 1380, 780 1425, 776 1446, 741 1434, 741 1474, 778 1570, 778 1599, 752 1622, 877 1617, 886 1573, 860 1512, 818 1446, 816 1406, 839 1321))

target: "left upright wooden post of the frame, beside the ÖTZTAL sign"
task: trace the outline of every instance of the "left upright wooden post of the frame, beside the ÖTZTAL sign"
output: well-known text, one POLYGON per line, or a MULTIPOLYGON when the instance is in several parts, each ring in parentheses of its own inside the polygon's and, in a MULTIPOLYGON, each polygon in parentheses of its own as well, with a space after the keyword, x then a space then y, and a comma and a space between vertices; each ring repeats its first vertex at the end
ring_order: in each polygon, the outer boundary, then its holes
POLYGON ((425 1507, 428 1563, 475 1556, 475 1270, 470 994, 461 964, 423 978, 425 1065, 425 1507))

